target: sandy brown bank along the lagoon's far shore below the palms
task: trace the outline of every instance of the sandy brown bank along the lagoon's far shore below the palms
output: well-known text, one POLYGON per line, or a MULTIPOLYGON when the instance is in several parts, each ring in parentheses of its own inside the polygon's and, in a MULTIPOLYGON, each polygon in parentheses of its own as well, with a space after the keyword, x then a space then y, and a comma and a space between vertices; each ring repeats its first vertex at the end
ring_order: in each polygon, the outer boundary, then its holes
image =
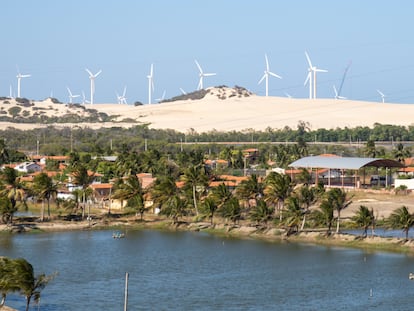
POLYGON ((210 234, 241 238, 257 239, 270 242, 287 242, 287 243, 308 243, 315 245, 352 247, 372 251, 389 251, 414 255, 414 240, 397 237, 380 237, 370 236, 362 238, 352 234, 326 235, 325 229, 305 230, 292 235, 287 235, 284 229, 274 227, 260 227, 249 223, 227 224, 216 223, 211 225, 210 222, 194 222, 191 218, 184 219, 178 223, 172 223, 171 219, 148 215, 143 221, 136 217, 123 217, 120 219, 108 220, 107 218, 91 221, 19 221, 13 226, 0 225, 0 232, 3 233, 30 233, 30 232, 66 232, 79 230, 166 230, 166 231, 194 231, 208 232, 210 234))

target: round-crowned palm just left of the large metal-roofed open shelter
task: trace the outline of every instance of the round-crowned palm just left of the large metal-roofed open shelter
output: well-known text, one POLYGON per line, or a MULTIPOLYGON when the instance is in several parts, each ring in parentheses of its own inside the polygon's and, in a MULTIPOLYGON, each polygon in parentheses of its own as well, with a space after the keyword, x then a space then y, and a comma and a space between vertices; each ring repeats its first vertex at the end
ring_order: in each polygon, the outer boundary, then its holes
POLYGON ((265 201, 277 206, 280 221, 283 220, 283 209, 285 200, 293 192, 293 182, 289 175, 271 172, 265 180, 265 201))

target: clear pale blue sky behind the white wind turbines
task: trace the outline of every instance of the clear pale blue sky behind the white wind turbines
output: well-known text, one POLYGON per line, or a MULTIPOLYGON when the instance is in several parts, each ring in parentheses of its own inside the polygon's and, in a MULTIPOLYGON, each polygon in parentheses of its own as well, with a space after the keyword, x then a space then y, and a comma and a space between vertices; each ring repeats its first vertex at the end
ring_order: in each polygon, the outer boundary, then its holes
POLYGON ((153 98, 196 90, 197 59, 204 86, 243 86, 258 95, 265 69, 269 95, 308 97, 303 85, 307 51, 318 74, 318 97, 333 98, 352 62, 342 96, 355 100, 414 103, 414 2, 410 0, 2 0, 0 95, 68 101, 66 87, 89 97, 96 78, 95 103, 116 102, 127 86, 128 103, 148 101, 154 64, 153 98))

